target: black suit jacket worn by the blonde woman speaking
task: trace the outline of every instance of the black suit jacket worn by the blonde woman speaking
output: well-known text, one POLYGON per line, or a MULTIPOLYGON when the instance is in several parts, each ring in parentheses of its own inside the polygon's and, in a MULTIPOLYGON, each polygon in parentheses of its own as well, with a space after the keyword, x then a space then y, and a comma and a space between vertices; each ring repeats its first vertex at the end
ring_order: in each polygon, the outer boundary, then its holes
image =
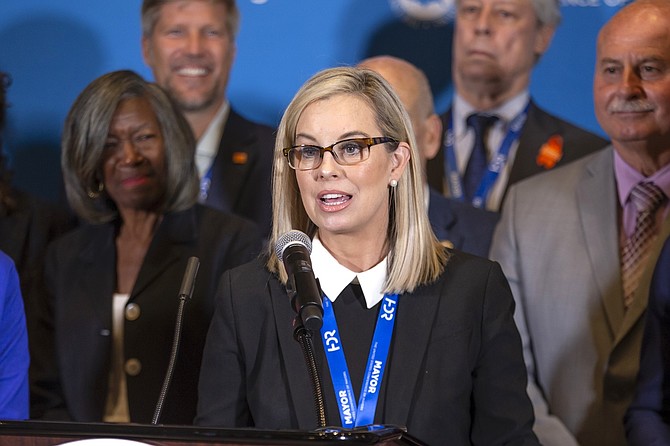
MULTIPOLYGON (((285 288, 257 259, 225 273, 216 299, 196 424, 316 428, 285 288)), ((436 282, 400 296, 375 423, 435 445, 538 444, 513 311, 499 265, 454 251, 436 282)))

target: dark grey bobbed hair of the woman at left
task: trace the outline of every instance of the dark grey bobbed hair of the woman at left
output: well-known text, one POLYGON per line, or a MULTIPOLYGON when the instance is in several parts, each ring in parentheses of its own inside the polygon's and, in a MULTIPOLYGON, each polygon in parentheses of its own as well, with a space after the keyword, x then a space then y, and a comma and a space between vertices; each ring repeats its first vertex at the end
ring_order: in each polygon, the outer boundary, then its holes
POLYGON ((102 191, 103 150, 119 104, 145 98, 156 114, 165 144, 167 182, 164 212, 193 206, 197 200, 195 138, 191 127, 168 94, 133 71, 114 71, 91 82, 75 100, 65 120, 61 166, 72 209, 82 218, 103 223, 118 215, 114 202, 102 191))

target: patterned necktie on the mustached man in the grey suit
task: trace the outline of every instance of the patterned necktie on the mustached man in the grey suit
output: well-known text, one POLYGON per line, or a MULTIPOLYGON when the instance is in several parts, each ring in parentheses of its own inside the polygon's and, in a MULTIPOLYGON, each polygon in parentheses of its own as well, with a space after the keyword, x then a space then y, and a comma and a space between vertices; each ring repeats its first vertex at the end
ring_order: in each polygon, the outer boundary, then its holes
POLYGON ((649 246, 656 238, 656 211, 666 196, 654 183, 640 182, 630 193, 630 200, 637 209, 635 230, 624 243, 621 253, 621 271, 626 308, 633 302, 633 294, 644 271, 649 246))

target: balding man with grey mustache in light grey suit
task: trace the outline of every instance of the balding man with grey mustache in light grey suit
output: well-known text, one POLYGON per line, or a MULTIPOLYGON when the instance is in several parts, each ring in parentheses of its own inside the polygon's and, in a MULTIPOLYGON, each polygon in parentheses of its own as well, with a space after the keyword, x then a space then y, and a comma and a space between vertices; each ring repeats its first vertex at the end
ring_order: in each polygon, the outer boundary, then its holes
POLYGON ((513 186, 491 257, 517 302, 545 445, 625 445, 651 270, 670 233, 670 3, 600 31, 595 112, 612 145, 513 186))

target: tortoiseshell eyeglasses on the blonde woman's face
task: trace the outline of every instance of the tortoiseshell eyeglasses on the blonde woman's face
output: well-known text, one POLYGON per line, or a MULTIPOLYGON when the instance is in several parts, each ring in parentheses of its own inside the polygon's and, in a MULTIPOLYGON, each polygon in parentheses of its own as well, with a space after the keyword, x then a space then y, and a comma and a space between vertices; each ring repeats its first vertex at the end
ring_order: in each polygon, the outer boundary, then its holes
POLYGON ((330 152, 337 164, 351 166, 365 161, 370 157, 370 147, 377 144, 395 143, 398 141, 387 136, 375 138, 343 139, 328 147, 299 145, 283 149, 288 165, 295 170, 312 170, 321 165, 325 152, 330 152))

